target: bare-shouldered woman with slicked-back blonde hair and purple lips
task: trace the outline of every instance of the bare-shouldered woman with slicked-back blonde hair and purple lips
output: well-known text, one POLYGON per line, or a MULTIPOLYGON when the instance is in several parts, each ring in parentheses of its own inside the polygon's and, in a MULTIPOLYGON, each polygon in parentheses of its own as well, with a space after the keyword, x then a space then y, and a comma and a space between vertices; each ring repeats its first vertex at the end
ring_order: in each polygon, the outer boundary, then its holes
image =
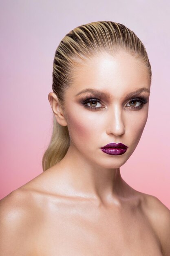
POLYGON ((101 21, 55 52, 43 173, 1 200, 0 255, 170 255, 170 211, 121 177, 148 118, 152 72, 139 38, 101 21))

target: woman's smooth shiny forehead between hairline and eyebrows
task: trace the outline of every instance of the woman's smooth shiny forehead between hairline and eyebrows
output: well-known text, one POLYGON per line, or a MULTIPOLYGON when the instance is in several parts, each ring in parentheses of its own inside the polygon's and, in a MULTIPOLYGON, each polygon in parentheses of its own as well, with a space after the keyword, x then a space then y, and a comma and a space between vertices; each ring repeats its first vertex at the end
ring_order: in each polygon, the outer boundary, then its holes
POLYGON ((71 94, 92 88, 121 97, 139 88, 150 88, 148 71, 140 59, 121 51, 116 56, 99 54, 75 67, 71 94))

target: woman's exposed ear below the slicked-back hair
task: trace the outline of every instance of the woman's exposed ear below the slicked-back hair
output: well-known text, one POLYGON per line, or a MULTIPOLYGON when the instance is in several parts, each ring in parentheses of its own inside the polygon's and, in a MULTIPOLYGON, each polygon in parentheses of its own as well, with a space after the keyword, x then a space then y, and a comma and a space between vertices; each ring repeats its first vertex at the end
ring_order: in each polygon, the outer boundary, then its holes
POLYGON ((57 95, 54 92, 50 92, 48 95, 48 99, 57 123, 59 123, 61 126, 67 126, 66 118, 64 117, 64 112, 60 105, 60 101, 57 98, 57 95))

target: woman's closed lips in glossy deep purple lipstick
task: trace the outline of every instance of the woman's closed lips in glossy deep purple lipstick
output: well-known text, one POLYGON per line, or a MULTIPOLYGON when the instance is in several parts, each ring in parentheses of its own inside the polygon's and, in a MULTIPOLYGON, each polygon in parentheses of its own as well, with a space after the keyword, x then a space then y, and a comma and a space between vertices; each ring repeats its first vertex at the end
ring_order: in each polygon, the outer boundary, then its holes
POLYGON ((126 152, 127 146, 122 143, 109 143, 102 147, 102 151, 108 155, 122 155, 126 152))

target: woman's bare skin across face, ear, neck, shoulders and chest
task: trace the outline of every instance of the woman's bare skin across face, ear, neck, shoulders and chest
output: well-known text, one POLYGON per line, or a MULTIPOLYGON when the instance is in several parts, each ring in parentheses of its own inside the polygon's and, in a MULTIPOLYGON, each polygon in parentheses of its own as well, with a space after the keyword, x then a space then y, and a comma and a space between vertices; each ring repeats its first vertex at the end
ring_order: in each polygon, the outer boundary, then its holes
POLYGON ((159 199, 130 187, 120 167, 137 147, 148 118, 147 103, 127 98, 150 91, 145 65, 126 52, 102 53, 74 70, 62 109, 53 92, 49 102, 71 139, 65 157, 0 201, 0 255, 170 256, 170 211, 159 199), (110 98, 81 103, 91 88, 110 98), (131 104, 130 104, 131 103, 131 104), (134 108, 130 108, 133 106, 134 108), (100 149, 110 142, 128 146, 123 155, 100 149))

